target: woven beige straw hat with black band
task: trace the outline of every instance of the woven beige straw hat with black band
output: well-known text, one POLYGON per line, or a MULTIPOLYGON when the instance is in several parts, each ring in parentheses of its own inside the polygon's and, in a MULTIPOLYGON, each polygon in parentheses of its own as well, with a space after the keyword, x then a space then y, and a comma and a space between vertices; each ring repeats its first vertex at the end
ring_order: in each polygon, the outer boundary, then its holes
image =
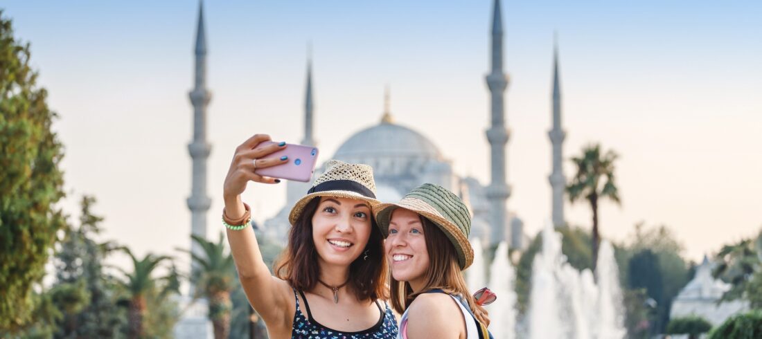
POLYGON ((325 163, 325 173, 321 174, 307 195, 294 204, 288 220, 291 225, 302 215, 307 204, 315 197, 338 197, 364 200, 370 207, 379 204, 376 200, 376 181, 373 181, 373 168, 363 164, 347 164, 338 160, 325 163))

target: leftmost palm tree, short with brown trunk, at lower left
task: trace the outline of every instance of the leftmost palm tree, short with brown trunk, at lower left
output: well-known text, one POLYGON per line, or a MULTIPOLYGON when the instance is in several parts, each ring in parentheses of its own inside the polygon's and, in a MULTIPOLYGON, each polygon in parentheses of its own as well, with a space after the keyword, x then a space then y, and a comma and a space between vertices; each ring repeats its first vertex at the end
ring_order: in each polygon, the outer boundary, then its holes
POLYGON ((126 277, 126 281, 121 281, 120 284, 130 295, 130 300, 127 302, 129 305, 130 337, 145 337, 146 329, 143 327, 143 317, 147 311, 146 296, 156 288, 161 289, 158 292, 158 298, 161 299, 166 298, 173 291, 178 292, 180 287, 178 272, 173 265, 169 275, 160 279, 165 280, 165 283, 157 286, 151 275, 162 261, 171 261, 171 257, 149 253, 142 260, 138 260, 129 248, 121 249, 130 256, 134 267, 132 273, 120 269, 126 277))

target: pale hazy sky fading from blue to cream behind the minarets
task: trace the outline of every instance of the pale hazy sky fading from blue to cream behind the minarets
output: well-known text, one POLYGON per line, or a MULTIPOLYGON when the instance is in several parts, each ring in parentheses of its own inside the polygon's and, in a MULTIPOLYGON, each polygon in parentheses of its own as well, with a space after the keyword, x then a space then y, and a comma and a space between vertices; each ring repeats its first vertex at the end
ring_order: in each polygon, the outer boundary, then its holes
MULTIPOLYGON (((668 225, 693 260, 762 227, 762 3, 503 2, 511 211, 534 234, 551 208, 550 90, 559 32, 565 158, 589 142, 621 155, 622 206, 602 203, 617 241, 636 222, 668 225)), ((98 198, 103 238, 143 254, 190 247, 195 1, 6 0, 31 43, 66 145, 77 216, 98 198)), ((255 133, 299 142, 307 45, 315 137, 327 160, 378 123, 391 86, 395 120, 429 137, 456 173, 487 183, 491 1, 204 4, 209 50, 209 235, 219 223, 233 149, 255 133)), ((571 164, 565 173, 571 177, 571 164)), ((285 185, 250 185, 255 218, 283 205, 285 185)), ((566 205, 590 227, 589 207, 566 205)))

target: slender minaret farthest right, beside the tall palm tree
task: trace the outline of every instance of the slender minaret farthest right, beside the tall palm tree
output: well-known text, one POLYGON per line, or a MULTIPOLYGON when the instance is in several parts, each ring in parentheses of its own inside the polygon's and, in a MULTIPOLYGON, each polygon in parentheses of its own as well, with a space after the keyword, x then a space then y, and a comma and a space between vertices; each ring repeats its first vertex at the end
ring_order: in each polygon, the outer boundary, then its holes
POLYGON ((564 190, 566 177, 563 168, 563 143, 566 133, 561 129, 561 85, 559 84, 559 46, 554 41, 553 46, 553 128, 548 131, 553 145, 553 171, 548 177, 553 190, 553 225, 562 227, 564 221, 564 190))

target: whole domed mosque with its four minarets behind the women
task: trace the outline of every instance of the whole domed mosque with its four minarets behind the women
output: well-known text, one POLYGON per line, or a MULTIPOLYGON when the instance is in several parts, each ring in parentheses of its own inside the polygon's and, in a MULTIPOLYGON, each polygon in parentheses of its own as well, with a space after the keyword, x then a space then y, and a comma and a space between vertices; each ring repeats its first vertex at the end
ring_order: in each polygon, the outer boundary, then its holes
MULTIPOLYGON (((491 126, 485 131, 490 147, 490 159, 484 165, 490 168, 489 184, 482 184, 474 177, 463 177, 453 171, 453 161, 440 149, 410 126, 398 122, 389 110, 389 91, 386 91, 385 108, 376 125, 359 130, 338 148, 334 155, 325 160, 338 159, 343 162, 363 163, 373 167, 376 179, 377 198, 382 201, 401 199, 405 193, 424 183, 434 183, 458 194, 472 211, 471 238, 479 238, 482 244, 496 247, 507 241, 511 248, 523 249, 529 238, 523 232, 523 222, 516 213, 511 213, 507 200, 511 197, 511 186, 507 183, 507 143, 510 130, 504 111, 504 94, 508 77, 503 68, 503 22, 500 0, 493 0, 491 20, 490 71, 485 82, 490 91, 491 126)), ((191 233, 207 237, 207 212, 211 204, 207 196, 207 160, 211 152, 207 140, 207 105, 211 94, 206 87, 207 37, 204 31, 203 8, 199 8, 196 31, 194 88, 189 93, 194 107, 193 140, 188 152, 193 160, 191 196, 187 206, 191 210, 191 233)), ((565 177, 562 171, 562 143, 565 132, 561 126, 561 94, 559 87, 558 58, 555 65, 552 90, 552 142, 553 169, 549 176, 552 186, 552 220, 556 227, 565 225, 563 216, 563 196, 565 177)), ((312 98, 312 62, 308 62, 306 75, 305 129, 302 144, 318 146, 315 141, 313 119, 315 117, 312 98)), ((317 177, 325 169, 315 168, 317 177)), ((311 187, 309 183, 287 181, 287 201, 282 209, 264 222, 258 231, 274 240, 285 243, 290 229, 288 213, 299 197, 311 187)), ((193 253, 200 253, 197 245, 191 247, 193 253)), ((194 267, 191 267, 195 270, 194 267)), ((191 286, 191 291, 193 286, 191 286)), ((206 302, 191 300, 184 296, 181 304, 187 309, 184 317, 176 325, 177 337, 210 337, 211 325, 206 318, 206 302)))

